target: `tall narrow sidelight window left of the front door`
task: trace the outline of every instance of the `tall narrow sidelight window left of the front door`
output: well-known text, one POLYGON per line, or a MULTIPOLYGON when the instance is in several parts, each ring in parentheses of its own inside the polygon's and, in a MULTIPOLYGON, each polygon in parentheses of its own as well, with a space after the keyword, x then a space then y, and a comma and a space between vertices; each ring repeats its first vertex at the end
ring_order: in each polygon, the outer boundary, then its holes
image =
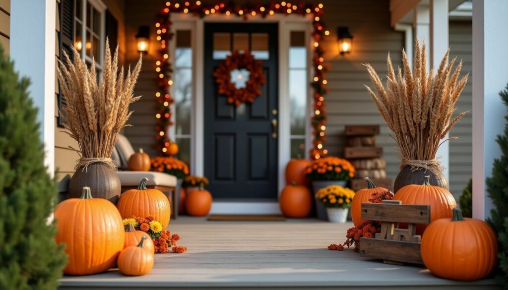
POLYGON ((174 65, 174 137, 178 158, 190 164, 190 140, 193 96, 193 49, 191 30, 176 30, 174 65))

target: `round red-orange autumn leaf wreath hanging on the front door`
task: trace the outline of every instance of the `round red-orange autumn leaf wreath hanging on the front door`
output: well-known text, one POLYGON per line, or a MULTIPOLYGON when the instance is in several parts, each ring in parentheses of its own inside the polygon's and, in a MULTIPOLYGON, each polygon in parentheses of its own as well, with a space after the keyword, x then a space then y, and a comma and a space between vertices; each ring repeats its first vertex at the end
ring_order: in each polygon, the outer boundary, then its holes
POLYGON ((235 106, 243 102, 252 103, 261 94, 261 85, 266 82, 261 61, 254 59, 248 51, 233 52, 220 63, 213 72, 213 76, 218 85, 218 93, 225 95, 228 104, 235 104, 235 106), (236 69, 245 69, 249 72, 249 79, 243 88, 236 88, 235 83, 231 81, 231 72, 236 69))

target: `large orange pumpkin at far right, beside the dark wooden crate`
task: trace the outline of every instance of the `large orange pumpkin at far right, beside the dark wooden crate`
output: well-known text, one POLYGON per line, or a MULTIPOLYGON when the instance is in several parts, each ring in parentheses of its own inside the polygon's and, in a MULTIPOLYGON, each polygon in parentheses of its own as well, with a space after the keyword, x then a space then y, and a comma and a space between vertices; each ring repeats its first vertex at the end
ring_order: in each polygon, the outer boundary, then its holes
POLYGON ((497 265, 497 239, 483 220, 453 217, 432 222, 422 237, 422 260, 432 274, 454 280, 477 280, 497 265))

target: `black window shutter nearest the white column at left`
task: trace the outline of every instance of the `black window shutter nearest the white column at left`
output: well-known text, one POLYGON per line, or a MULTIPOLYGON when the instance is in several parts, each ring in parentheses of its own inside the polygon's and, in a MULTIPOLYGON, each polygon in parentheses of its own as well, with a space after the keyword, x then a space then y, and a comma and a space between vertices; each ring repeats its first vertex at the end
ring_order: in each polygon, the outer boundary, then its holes
MULTIPOLYGON (((74 45, 74 8, 75 8, 75 0, 60 0, 59 5, 60 12, 60 33, 58 34, 59 40, 59 50, 58 55, 59 59, 63 59, 62 50, 65 50, 67 54, 72 58, 72 49, 71 47, 74 45)), ((58 109, 60 113, 57 118, 57 125, 59 127, 63 127, 63 118, 61 116, 61 108, 65 106, 65 101, 62 98, 61 90, 58 89, 58 109)))

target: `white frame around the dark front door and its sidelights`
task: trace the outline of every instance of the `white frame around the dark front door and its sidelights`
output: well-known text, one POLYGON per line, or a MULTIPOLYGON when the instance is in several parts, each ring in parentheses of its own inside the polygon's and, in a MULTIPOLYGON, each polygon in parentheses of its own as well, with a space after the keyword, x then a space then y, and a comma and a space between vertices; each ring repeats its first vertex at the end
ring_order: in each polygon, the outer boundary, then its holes
MULTIPOLYGON (((190 143, 190 168, 192 174, 203 175, 204 173, 204 24, 207 22, 244 22, 242 17, 226 15, 209 15, 205 18, 199 18, 190 14, 171 13, 171 31, 176 35, 177 30, 190 30, 192 35, 193 49, 193 99, 192 116, 190 120, 191 140, 190 143)), ((277 150, 277 174, 278 174, 278 192, 285 186, 285 166, 291 159, 291 119, 289 110, 289 58, 290 32, 292 30, 305 31, 305 43, 307 48, 307 110, 305 114, 305 158, 308 158, 309 148, 312 146, 310 116, 312 114, 312 91, 310 83, 312 81, 312 17, 307 15, 272 15, 267 18, 261 16, 249 17, 250 23, 277 23, 278 24, 278 135, 277 150), (284 85, 285 84, 285 85, 284 85)), ((171 41, 169 45, 169 59, 174 63, 174 52, 176 42, 171 41)), ((174 87, 170 86, 170 94, 174 95, 174 87)), ((174 112, 175 105, 171 104, 171 110, 174 112)), ((175 114, 171 116, 174 122, 175 114)), ((169 136, 175 137, 175 127, 170 127, 169 136)), ((266 213, 277 214, 280 209, 277 202, 215 202, 212 205, 211 213, 238 214, 238 213, 266 213)))

